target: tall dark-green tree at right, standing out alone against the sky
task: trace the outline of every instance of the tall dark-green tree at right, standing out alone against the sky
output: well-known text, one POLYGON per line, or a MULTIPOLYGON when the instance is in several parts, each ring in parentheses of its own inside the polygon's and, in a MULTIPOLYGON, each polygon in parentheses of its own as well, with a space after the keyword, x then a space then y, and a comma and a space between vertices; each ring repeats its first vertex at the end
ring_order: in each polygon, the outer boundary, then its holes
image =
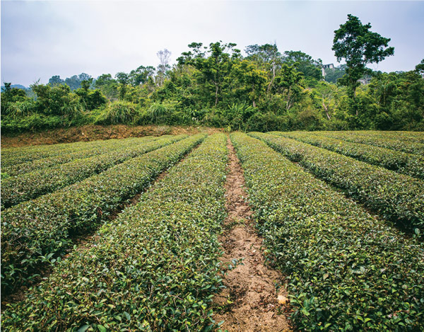
MULTIPOLYGON (((346 60, 346 74, 338 83, 348 87, 348 95, 355 100, 358 80, 371 70, 367 64, 381 62, 394 54, 394 47, 388 47, 390 38, 384 38, 370 31, 371 24, 361 23, 359 18, 348 14, 348 21, 334 31, 333 48, 337 61, 346 60)), ((358 115, 358 108, 356 108, 358 115)))

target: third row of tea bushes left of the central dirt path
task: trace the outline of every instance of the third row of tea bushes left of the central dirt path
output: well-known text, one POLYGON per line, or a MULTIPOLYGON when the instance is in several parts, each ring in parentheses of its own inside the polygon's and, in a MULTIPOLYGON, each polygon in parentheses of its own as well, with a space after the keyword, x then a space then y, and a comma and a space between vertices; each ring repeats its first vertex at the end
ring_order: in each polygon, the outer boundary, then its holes
POLYGON ((7 208, 52 193, 128 159, 177 142, 184 137, 187 137, 187 135, 165 137, 153 142, 139 142, 100 156, 76 159, 66 164, 6 178, 1 183, 1 205, 3 208, 7 208))

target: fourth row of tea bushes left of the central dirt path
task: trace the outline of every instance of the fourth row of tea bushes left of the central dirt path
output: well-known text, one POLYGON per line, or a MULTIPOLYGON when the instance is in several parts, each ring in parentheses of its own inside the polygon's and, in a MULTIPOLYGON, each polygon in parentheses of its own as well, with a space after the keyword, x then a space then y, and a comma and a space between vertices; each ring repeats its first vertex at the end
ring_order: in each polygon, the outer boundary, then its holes
MULTIPOLYGON (((105 141, 103 144, 86 148, 83 147, 78 151, 71 152, 69 154, 59 154, 59 156, 51 156, 47 158, 37 159, 34 161, 27 161, 22 164, 16 164, 13 166, 7 166, 1 168, 1 173, 6 173, 8 176, 19 176, 31 171, 40 171, 43 168, 52 167, 60 164, 66 164, 76 159, 86 159, 90 156, 98 156, 100 154, 106 154, 107 152, 129 147, 135 144, 141 144, 145 142, 151 142, 157 139, 157 137, 142 137, 142 138, 129 138, 129 139, 110 139, 105 141)), ((54 147, 52 146, 52 151, 54 147)))

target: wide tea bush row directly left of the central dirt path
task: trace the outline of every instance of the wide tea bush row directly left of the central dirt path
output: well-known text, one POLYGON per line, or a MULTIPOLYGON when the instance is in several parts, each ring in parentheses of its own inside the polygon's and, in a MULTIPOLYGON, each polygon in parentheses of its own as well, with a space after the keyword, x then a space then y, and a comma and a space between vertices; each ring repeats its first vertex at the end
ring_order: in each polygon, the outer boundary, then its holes
POLYGON ((216 134, 4 311, 8 331, 207 331, 221 286, 226 137, 216 134))

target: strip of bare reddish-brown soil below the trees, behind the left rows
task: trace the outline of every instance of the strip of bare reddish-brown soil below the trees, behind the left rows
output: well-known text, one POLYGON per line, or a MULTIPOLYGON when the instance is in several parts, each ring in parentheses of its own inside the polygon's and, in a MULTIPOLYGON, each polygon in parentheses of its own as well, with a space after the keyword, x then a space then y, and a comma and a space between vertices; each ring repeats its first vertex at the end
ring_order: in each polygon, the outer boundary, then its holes
POLYGON ((199 132, 220 131, 207 127, 169 127, 169 126, 127 126, 127 125, 85 125, 48 130, 45 132, 25 132, 13 136, 1 136, 1 147, 23 147, 25 145, 57 144, 98 139, 123 139, 126 137, 161 136, 163 134, 197 134, 199 132))

